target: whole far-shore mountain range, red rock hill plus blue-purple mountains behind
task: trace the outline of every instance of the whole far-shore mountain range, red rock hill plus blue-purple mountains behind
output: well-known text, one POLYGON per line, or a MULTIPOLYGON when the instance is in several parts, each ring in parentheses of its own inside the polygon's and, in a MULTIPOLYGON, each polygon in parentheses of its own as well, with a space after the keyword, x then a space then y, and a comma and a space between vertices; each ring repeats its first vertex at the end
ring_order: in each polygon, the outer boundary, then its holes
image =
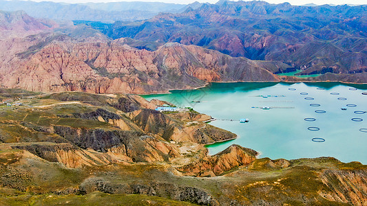
POLYGON ((160 93, 207 82, 364 83, 365 10, 222 1, 147 21, 76 25, 1 12, 0 84, 31 91, 160 93), (275 75, 295 69, 324 75, 275 75))

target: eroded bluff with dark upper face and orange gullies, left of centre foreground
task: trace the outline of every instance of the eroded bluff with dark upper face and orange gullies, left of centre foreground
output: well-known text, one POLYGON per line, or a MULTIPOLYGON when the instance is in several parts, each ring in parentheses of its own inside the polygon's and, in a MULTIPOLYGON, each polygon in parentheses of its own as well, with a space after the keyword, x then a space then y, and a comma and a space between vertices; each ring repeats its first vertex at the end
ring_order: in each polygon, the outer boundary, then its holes
POLYGON ((54 126, 54 133, 79 148, 92 148, 98 152, 116 150, 133 161, 167 161, 178 155, 176 148, 136 131, 54 126))

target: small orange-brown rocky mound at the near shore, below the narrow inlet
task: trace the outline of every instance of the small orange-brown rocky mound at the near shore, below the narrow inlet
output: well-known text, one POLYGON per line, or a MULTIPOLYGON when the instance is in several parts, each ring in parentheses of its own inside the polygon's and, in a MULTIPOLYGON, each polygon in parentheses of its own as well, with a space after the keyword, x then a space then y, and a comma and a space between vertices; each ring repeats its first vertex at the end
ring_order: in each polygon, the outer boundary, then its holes
POLYGON ((235 167, 252 163, 257 155, 258 152, 255 150, 232 145, 216 155, 199 159, 178 170, 191 176, 216 176, 235 167))

